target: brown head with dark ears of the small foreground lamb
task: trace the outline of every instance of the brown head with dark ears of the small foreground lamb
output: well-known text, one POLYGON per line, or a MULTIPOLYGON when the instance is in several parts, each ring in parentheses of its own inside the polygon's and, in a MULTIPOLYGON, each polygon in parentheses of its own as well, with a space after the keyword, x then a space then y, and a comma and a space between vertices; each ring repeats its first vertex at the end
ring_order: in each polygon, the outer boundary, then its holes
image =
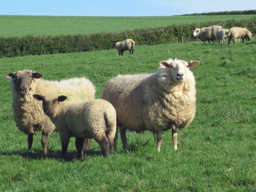
POLYGON ((38 101, 43 101, 42 107, 47 116, 53 116, 59 110, 59 104, 67 99, 67 96, 57 96, 54 94, 38 95, 34 94, 33 97, 38 101))

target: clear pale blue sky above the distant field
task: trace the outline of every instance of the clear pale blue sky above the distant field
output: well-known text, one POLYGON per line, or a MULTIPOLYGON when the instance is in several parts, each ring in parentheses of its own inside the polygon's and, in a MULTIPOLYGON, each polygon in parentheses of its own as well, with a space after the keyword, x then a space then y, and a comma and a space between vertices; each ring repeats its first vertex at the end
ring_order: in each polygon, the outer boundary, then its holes
POLYGON ((256 10, 256 0, 1 0, 0 15, 171 16, 256 10))

